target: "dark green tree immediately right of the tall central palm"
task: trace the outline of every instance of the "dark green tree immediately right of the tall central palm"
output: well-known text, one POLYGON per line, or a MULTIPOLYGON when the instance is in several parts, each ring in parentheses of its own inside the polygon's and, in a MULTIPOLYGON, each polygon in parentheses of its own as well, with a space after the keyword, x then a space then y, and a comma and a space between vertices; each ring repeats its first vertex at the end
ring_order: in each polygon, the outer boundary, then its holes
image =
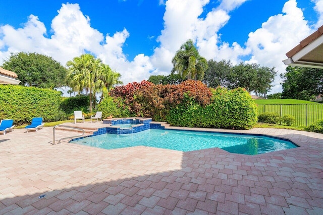
POLYGON ((212 88, 218 86, 227 86, 227 76, 230 74, 232 69, 232 64, 230 61, 207 61, 207 70, 205 72, 203 82, 212 88))

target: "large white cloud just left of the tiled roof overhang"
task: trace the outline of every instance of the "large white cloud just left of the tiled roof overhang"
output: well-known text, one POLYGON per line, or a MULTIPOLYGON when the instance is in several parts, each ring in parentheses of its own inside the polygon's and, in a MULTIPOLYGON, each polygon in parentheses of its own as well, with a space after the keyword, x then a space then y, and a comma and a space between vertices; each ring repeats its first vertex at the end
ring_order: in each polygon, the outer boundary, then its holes
POLYGON ((287 59, 285 53, 312 32, 295 0, 286 2, 282 12, 283 14, 268 18, 261 28, 249 33, 246 42, 252 55, 246 63, 275 67, 278 71, 272 92, 282 90, 279 74, 284 73, 286 69, 282 62, 287 59))

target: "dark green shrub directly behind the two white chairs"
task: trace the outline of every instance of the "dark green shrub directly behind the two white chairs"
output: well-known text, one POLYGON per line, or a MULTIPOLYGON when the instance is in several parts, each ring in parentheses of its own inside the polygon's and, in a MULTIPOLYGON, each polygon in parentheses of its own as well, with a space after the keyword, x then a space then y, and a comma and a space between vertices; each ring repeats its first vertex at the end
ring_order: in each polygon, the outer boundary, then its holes
POLYGON ((87 108, 89 105, 90 105, 90 99, 88 95, 77 95, 75 97, 64 98, 60 105, 60 108, 65 113, 71 114, 71 113, 74 113, 74 111, 80 111, 76 109, 81 106, 85 106, 86 107, 85 112, 87 112, 87 108))

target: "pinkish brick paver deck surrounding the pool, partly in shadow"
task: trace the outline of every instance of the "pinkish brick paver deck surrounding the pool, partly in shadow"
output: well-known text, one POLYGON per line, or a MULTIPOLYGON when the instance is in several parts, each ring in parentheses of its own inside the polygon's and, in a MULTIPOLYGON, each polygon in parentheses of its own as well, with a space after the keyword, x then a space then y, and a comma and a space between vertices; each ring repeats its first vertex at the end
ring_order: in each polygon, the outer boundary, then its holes
POLYGON ((301 147, 256 156, 219 148, 105 150, 52 145, 52 127, 15 129, 0 135, 0 214, 323 214, 322 134, 238 132, 301 147))

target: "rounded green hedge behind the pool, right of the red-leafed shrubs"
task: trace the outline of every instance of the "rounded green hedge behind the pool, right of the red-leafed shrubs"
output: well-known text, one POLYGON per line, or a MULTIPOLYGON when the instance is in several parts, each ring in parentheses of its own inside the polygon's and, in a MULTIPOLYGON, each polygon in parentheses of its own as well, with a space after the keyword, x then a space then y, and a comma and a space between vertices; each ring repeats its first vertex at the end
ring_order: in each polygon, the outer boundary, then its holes
POLYGON ((237 88, 212 90, 211 103, 203 108, 188 95, 171 109, 166 119, 173 126, 250 129, 257 122, 257 107, 249 93, 237 88))

